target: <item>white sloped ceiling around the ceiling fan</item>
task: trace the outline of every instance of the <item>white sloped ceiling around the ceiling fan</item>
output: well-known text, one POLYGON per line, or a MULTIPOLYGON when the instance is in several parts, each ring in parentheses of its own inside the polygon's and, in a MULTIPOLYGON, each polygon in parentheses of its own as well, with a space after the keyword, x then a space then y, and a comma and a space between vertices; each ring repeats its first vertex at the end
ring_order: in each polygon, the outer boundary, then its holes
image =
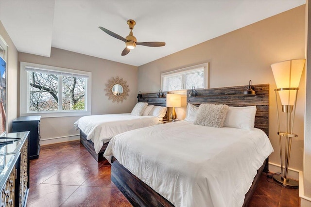
POLYGON ((0 20, 17 50, 50 57, 51 47, 139 66, 304 4, 305 0, 0 0, 0 20), (137 46, 121 56, 134 19, 137 46))

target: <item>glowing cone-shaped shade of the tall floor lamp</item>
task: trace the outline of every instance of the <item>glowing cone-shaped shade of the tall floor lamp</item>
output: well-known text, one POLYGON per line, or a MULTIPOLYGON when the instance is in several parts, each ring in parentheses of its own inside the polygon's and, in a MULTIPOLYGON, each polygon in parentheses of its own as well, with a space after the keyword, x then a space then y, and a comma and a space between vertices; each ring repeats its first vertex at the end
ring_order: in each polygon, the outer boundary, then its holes
MULTIPOLYGON (((305 59, 288 60, 271 65, 276 87, 298 88, 305 59)), ((297 90, 280 90, 278 94, 282 105, 294 105, 297 90)))

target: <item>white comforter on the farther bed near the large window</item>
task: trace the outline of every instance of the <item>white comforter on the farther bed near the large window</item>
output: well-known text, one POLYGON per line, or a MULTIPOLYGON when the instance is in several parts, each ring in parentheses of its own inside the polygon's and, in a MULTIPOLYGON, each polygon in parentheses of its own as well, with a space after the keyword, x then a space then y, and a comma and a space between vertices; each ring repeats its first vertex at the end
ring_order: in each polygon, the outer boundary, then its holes
POLYGON ((99 153, 104 143, 107 143, 125 131, 156 125, 159 118, 156 116, 134 116, 130 113, 104 114, 83 116, 74 123, 75 129, 81 129, 87 140, 94 143, 96 153, 99 153))

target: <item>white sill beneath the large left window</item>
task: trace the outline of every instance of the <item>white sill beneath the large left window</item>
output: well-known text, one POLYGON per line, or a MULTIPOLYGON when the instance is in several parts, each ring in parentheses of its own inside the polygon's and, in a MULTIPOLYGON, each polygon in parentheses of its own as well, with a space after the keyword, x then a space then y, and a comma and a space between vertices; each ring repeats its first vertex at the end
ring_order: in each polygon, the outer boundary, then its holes
POLYGON ((91 111, 28 112, 20 114, 20 116, 41 116, 42 118, 86 116, 86 115, 91 115, 91 111))

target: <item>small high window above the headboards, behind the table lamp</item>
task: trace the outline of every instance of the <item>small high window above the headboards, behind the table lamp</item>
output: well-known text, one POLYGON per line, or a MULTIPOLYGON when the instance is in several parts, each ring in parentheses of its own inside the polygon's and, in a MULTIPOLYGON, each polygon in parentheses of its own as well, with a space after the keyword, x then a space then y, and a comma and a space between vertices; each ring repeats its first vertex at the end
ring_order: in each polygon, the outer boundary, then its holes
POLYGON ((207 88, 208 64, 200 64, 161 74, 163 91, 207 88))

